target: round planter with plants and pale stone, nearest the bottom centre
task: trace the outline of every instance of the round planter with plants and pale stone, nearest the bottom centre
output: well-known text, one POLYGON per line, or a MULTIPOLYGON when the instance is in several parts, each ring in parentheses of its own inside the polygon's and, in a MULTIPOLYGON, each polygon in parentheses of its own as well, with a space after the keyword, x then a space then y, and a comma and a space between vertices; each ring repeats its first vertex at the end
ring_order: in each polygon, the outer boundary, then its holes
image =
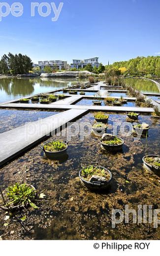
POLYGON ((82 167, 79 177, 88 189, 105 190, 110 185, 112 174, 102 166, 88 165, 82 167))

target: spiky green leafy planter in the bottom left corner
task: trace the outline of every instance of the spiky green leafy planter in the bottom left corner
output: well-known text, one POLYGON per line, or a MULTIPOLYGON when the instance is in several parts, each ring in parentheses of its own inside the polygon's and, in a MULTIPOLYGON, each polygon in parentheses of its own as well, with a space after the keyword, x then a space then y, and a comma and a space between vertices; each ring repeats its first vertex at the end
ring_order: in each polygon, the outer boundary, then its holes
POLYGON ((4 205, 0 205, 0 208, 5 211, 16 211, 22 208, 31 206, 38 208, 33 201, 36 199, 36 190, 32 185, 26 183, 15 183, 15 185, 8 187, 4 194, 1 195, 3 198, 4 205))

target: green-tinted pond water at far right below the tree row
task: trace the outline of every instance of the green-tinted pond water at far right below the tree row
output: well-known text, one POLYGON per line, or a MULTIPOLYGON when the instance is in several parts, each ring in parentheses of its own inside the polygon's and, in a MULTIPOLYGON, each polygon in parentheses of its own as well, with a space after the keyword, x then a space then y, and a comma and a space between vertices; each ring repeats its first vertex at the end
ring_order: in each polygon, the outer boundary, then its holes
POLYGON ((160 93, 157 85, 149 80, 126 78, 125 83, 142 93, 160 93))

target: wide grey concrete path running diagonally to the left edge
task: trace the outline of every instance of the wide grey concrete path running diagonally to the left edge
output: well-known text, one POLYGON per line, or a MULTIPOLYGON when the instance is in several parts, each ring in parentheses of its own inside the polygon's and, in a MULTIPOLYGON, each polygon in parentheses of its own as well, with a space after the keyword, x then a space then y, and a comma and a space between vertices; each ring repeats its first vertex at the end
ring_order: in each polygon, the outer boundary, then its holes
MULTIPOLYGON (((87 113, 87 109, 71 109, 0 133, 0 165, 42 141, 56 129, 87 113)), ((39 150, 40 147, 39 147, 39 150)))

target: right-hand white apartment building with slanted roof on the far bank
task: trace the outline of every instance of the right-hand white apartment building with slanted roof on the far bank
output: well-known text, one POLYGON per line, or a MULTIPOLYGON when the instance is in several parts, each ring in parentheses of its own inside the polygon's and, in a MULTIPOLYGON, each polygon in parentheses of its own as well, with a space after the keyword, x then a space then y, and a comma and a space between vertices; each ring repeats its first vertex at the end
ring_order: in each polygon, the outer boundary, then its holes
POLYGON ((71 68, 84 68, 87 64, 92 64, 93 67, 98 67, 98 57, 91 58, 91 59, 85 59, 85 60, 73 60, 73 63, 70 64, 71 68))

